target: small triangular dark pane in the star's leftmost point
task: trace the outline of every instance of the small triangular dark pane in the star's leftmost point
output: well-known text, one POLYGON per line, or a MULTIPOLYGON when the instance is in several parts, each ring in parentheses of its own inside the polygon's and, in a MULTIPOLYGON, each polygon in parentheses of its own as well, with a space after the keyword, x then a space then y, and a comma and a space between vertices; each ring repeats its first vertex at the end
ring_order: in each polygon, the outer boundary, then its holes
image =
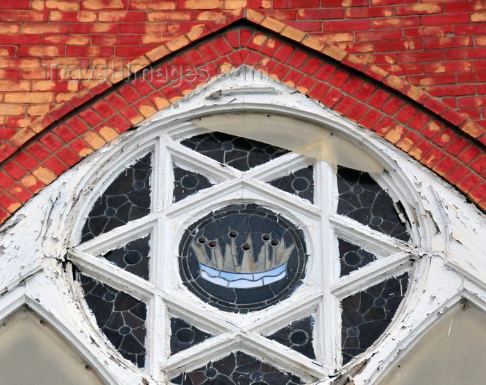
POLYGON ((126 243, 122 248, 109 251, 103 257, 108 259, 112 264, 123 268, 124 271, 148 280, 149 253, 150 235, 147 235, 144 238, 135 239, 135 241, 126 243))

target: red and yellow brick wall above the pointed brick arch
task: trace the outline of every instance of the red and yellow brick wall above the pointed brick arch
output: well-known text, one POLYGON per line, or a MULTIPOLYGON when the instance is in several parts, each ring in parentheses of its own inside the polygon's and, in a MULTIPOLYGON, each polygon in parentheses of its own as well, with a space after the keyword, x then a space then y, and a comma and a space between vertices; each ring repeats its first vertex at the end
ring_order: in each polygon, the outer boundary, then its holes
MULTIPOLYGON (((298 28, 315 37, 316 42, 328 42, 400 76, 449 106, 447 114, 459 112, 462 118, 454 115, 453 124, 464 126, 464 118, 477 122, 480 126, 474 129, 473 136, 483 144, 486 142, 485 1, 1 0, 1 160, 31 139, 32 135, 25 137, 22 128, 42 116, 45 116, 44 126, 52 123, 57 112, 45 115, 51 108, 71 99, 74 92, 99 85, 99 80, 86 80, 95 65, 107 62, 115 67, 123 65, 242 6, 298 28), (56 62, 61 68, 82 65, 86 69, 85 78, 49 80, 46 71, 49 62, 56 62)), ((429 105, 433 98, 428 99, 429 105)), ((76 100, 83 100, 82 96, 76 100)), ((335 108, 342 109, 346 101, 342 99, 335 108)), ((76 107, 76 103, 72 106, 76 107)), ((62 137, 56 138, 62 142, 62 137)), ((432 136, 429 140, 434 139, 438 140, 432 136)), ((451 146, 441 144, 446 145, 451 146)), ((449 161, 446 168, 457 174, 457 181, 452 182, 457 185, 464 184, 471 164, 475 164, 472 189, 476 188, 477 197, 473 200, 485 205, 481 198, 485 196, 485 156, 483 146, 479 142, 475 146, 475 149, 469 144, 451 148, 449 153, 458 157, 459 163, 449 161), (464 167, 469 169, 467 173, 464 167)), ((47 157, 42 155, 43 151, 39 149, 37 155, 33 154, 33 161, 15 162, 15 170, 11 165, 11 169, 4 168, 6 178, 25 178, 33 169, 33 162, 38 164, 47 157)), ((73 162, 62 160, 60 164, 67 169, 73 162)), ((1 178, 0 187, 7 184, 1 178)), ((33 187, 28 191, 35 194, 43 183, 38 178, 31 182, 33 187)), ((467 191, 472 190, 469 185, 467 191)), ((12 198, 12 194, 8 195, 12 198)), ((26 196, 22 195, 20 203, 26 196)), ((18 207, 17 203, 2 205, 6 206, 18 207)))

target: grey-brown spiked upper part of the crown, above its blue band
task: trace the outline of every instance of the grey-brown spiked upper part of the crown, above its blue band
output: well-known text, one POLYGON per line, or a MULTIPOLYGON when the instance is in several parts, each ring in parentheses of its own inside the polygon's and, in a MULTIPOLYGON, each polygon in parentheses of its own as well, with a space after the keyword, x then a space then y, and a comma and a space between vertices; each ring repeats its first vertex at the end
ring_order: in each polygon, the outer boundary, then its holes
POLYGON ((287 247, 285 239, 272 239, 269 234, 263 234, 263 246, 255 254, 250 234, 242 246, 236 246, 237 232, 229 232, 229 237, 230 244, 220 243, 219 239, 208 241, 205 237, 192 241, 191 248, 199 264, 226 273, 264 273, 287 264, 295 247, 294 244, 287 247))

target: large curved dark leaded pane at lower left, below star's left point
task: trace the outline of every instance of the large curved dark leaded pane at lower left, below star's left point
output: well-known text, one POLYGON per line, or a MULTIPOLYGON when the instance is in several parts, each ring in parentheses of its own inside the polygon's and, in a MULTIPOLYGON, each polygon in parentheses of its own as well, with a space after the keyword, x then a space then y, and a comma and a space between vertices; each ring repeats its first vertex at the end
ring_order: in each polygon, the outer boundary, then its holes
POLYGON ((85 300, 101 331, 120 354, 139 368, 145 364, 146 306, 118 291, 78 273, 85 300))

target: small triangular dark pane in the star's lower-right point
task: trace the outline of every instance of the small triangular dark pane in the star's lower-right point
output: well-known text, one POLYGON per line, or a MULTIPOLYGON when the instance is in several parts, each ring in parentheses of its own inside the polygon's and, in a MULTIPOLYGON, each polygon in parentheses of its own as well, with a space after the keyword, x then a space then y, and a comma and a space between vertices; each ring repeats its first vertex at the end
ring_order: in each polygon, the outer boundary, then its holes
POLYGON ((312 347, 313 330, 314 318, 308 316, 294 321, 278 330, 278 332, 271 334, 271 336, 267 336, 267 338, 288 346, 310 359, 315 359, 316 356, 312 347))

